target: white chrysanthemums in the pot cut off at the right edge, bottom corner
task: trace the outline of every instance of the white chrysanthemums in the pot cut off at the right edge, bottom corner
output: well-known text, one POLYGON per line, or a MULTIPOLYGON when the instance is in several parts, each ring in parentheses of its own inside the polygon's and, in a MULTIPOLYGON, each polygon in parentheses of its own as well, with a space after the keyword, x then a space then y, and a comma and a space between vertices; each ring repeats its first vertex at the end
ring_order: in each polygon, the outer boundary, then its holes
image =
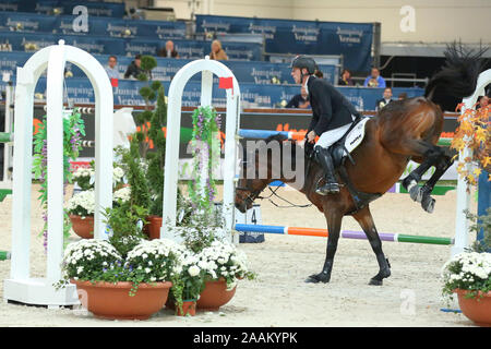
POLYGON ((443 296, 450 300, 456 289, 468 290, 468 298, 491 291, 491 253, 463 252, 442 269, 443 296))

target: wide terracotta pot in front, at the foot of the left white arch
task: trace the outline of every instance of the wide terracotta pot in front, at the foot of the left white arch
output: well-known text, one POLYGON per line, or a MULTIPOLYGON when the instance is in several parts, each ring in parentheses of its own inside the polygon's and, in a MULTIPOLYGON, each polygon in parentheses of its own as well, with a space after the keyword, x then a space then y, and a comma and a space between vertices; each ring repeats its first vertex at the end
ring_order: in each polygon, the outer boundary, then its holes
POLYGON ((81 302, 96 317, 110 320, 147 320, 164 308, 172 282, 140 284, 135 296, 129 292, 132 282, 76 281, 77 290, 83 290, 81 302))

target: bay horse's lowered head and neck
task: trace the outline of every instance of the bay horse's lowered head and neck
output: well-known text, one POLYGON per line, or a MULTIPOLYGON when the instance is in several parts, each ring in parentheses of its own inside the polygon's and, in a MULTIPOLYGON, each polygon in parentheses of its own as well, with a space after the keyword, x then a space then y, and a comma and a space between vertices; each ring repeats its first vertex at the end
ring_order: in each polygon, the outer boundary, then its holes
POLYGON ((254 144, 253 152, 247 146, 243 149, 241 177, 236 186, 236 207, 246 213, 249 208, 252 208, 254 200, 260 197, 261 192, 276 179, 280 179, 279 172, 282 159, 282 142, 285 141, 285 136, 274 135, 270 136, 265 141, 254 144), (274 145, 278 142, 278 152, 274 145), (265 155, 264 157, 262 155, 265 155), (276 172, 276 173, 275 173, 276 172))

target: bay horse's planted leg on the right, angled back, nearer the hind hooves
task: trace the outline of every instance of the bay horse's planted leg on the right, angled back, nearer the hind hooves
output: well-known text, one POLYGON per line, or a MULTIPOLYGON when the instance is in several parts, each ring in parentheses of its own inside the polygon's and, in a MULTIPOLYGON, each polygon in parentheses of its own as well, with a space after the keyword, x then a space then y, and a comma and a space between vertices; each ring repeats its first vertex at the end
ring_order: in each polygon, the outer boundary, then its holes
POLYGON ((352 217, 358 221, 361 229, 363 229, 367 234, 370 245, 375 253, 376 262, 379 263, 379 274, 370 279, 369 285, 380 286, 384 278, 391 276, 391 264, 388 263, 388 260, 385 258, 384 252, 382 251, 382 241, 380 240, 369 206, 360 209, 354 214, 352 217))

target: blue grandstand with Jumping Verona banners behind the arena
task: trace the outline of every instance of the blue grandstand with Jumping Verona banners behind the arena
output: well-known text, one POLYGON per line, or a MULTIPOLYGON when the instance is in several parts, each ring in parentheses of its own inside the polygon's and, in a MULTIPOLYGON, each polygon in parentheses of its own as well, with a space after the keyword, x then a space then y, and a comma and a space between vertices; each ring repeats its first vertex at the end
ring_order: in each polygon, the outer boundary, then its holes
MULTIPOLYGON (((0 4, 0 72, 3 76, 0 91, 4 91, 9 79, 15 81, 15 67, 22 67, 34 51, 60 38, 91 52, 103 64, 109 55, 117 56, 121 80, 115 87, 115 105, 130 106, 142 106, 144 101, 137 93, 142 83, 122 79, 125 68, 137 53, 156 57, 168 39, 173 40, 179 59, 157 58, 154 80, 168 87, 182 65, 204 58, 209 52, 211 40, 219 38, 229 57, 224 63, 239 81, 242 105, 250 108, 279 108, 299 93, 288 63, 297 53, 314 57, 324 77, 335 85, 343 68, 364 76, 370 65, 380 59, 373 56, 380 51, 375 47, 380 43, 376 23, 209 14, 196 14, 194 20, 155 21, 130 19, 130 12, 135 11, 129 11, 127 2, 115 1, 3 1, 0 4), (85 12, 80 7, 85 7, 85 12)), ((70 64, 68 69, 69 97, 75 104, 93 103, 94 96, 83 72, 70 64)), ((421 84, 396 87, 394 95, 404 92, 408 97, 419 96, 423 91, 420 87, 421 84)), ((184 106, 197 104, 195 92, 199 88, 196 76, 184 92, 184 106)), ((382 94, 379 88, 338 88, 359 110, 373 110, 382 94)), ((45 97, 45 91, 46 81, 41 79, 36 88, 39 100, 45 97)), ((223 106, 224 91, 216 88, 213 98, 216 106, 223 106)))

